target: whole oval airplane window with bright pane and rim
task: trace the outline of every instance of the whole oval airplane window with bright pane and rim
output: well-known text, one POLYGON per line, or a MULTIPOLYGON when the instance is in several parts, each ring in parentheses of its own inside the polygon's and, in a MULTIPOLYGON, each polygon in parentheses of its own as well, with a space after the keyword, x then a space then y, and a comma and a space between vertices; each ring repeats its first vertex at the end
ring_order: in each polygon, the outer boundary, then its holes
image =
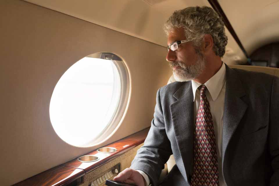
POLYGON ((56 84, 49 107, 51 124, 68 144, 96 145, 116 130, 128 94, 129 75, 121 58, 112 53, 87 56, 56 84))

